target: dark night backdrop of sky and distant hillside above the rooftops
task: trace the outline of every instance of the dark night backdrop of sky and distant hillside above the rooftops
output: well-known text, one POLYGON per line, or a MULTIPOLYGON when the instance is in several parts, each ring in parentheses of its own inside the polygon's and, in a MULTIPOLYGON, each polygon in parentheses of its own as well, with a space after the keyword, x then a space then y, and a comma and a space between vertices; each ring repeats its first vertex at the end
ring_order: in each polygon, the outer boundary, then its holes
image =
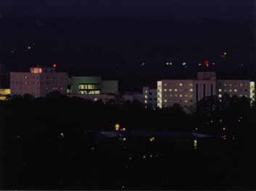
POLYGON ((205 60, 219 77, 254 80, 255 1, 0 4, 0 88, 8 88, 11 70, 52 64, 70 77, 119 80, 120 91, 139 91, 164 78, 194 78, 205 70, 205 60))

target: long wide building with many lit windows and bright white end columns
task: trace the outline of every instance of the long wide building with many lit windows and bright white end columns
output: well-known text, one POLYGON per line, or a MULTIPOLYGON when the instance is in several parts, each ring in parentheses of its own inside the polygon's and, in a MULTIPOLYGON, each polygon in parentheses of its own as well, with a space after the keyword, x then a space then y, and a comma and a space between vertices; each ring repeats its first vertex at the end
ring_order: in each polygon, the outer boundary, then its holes
POLYGON ((218 80, 215 72, 198 72, 196 80, 160 80, 157 82, 157 106, 162 108, 180 103, 184 108, 192 108, 202 98, 221 98, 224 93, 246 96, 254 100, 255 82, 218 80))

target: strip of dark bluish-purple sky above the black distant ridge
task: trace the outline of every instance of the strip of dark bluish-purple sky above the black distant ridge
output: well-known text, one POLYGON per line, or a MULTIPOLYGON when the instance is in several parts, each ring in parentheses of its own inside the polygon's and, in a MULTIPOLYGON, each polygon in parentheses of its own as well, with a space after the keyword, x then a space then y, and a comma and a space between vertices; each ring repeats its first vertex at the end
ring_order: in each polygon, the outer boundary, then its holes
POLYGON ((2 15, 252 20, 253 0, 1 0, 2 15))

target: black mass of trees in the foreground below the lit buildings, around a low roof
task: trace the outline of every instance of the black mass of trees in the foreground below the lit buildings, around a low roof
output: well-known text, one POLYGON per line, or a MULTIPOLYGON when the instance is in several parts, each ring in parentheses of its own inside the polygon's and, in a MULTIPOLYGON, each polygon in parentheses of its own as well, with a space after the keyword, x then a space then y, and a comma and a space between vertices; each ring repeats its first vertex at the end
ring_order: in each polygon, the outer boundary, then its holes
POLYGON ((246 97, 206 97, 188 114, 179 104, 154 110, 121 96, 104 104, 52 92, 8 97, 0 109, 1 189, 255 188, 256 111, 246 97), (115 124, 204 133, 215 137, 214 148, 185 152, 162 144, 153 149, 158 158, 131 162, 143 145, 128 152, 126 143, 94 136, 115 124))

